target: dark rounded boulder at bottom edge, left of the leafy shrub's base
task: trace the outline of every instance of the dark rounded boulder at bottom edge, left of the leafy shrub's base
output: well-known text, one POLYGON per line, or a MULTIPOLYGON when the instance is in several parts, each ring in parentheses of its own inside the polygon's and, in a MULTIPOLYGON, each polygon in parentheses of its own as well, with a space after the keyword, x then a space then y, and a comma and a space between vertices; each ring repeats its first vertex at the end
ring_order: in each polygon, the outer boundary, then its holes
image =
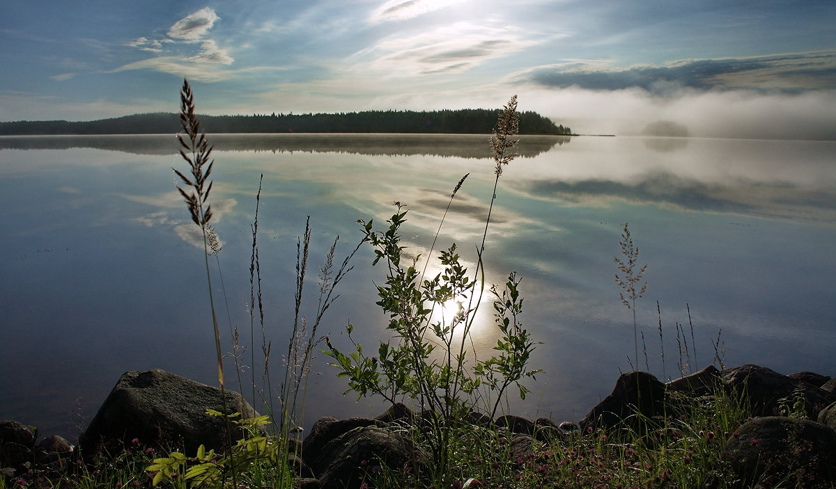
POLYGON ((382 464, 395 470, 424 471, 427 462, 410 439, 377 426, 343 433, 323 446, 314 461, 324 468, 319 476, 324 489, 359 489, 367 471, 382 464))

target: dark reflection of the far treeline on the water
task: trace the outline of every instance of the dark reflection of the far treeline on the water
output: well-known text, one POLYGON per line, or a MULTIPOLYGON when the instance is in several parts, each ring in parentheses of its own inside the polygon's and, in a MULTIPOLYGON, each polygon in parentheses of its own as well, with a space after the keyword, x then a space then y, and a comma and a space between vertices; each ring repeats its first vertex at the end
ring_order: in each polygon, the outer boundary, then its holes
MULTIPOLYGON (((480 134, 211 134, 216 151, 354 153, 485 158, 480 134)), ((571 136, 523 136, 519 153, 531 158, 568 144, 571 136)), ((3 136, 0 149, 92 148, 133 154, 177 154, 173 135, 3 136)))

